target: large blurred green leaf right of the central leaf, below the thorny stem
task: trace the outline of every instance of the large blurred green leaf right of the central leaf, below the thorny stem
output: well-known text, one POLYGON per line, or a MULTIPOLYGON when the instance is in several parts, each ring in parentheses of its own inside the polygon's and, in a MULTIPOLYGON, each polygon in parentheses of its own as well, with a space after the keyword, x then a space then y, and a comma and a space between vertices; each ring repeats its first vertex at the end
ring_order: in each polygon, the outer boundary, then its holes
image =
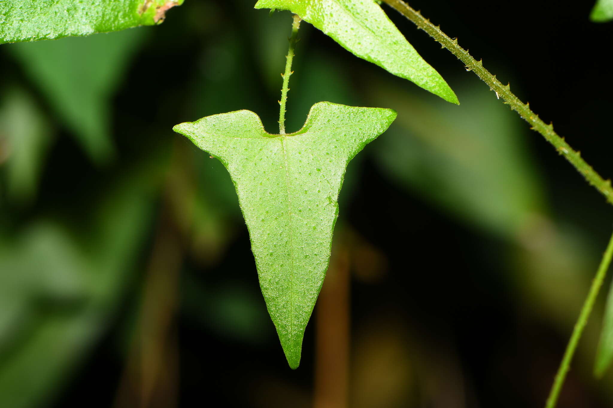
POLYGON ((502 236, 515 236, 543 212, 520 122, 506 106, 493 103, 487 89, 471 87, 457 107, 428 103, 383 81, 370 85, 377 103, 386 101, 399 113, 375 144, 376 162, 391 179, 502 236))

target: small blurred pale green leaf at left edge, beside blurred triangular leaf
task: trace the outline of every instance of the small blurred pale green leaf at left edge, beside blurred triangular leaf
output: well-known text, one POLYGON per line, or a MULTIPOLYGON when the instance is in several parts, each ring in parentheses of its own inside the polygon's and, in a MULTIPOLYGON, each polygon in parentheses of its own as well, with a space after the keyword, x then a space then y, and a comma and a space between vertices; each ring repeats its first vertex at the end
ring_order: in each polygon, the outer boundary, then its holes
POLYGON ((0 129, 4 138, 7 195, 15 202, 30 201, 36 193, 53 128, 26 91, 13 88, 0 105, 0 129))

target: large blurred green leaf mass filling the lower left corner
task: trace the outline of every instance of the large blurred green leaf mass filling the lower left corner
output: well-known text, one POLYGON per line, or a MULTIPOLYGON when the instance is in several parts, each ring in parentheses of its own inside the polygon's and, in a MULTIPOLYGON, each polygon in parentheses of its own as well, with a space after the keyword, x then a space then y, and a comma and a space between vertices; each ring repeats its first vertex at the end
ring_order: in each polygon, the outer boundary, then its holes
POLYGON ((40 220, 18 240, 0 237, 0 406, 50 401, 117 310, 146 237, 151 183, 107 196, 80 233, 40 220))

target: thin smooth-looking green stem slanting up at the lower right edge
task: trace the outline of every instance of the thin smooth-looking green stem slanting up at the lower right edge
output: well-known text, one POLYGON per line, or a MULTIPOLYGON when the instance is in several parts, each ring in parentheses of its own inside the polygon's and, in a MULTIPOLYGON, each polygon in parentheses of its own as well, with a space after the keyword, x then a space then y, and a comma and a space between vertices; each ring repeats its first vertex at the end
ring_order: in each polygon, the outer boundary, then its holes
POLYGON ((573 335, 568 342, 568 346, 566 346, 562 363, 560 363, 558 373, 555 375, 554 385, 551 387, 549 398, 547 398, 547 404, 545 405, 546 408, 554 408, 555 403, 558 401, 558 396, 562 390, 562 385, 564 385, 566 374, 570 369, 571 360, 573 360, 573 355, 577 349, 577 344, 579 344, 579 339, 581 338, 585 325, 587 324, 587 319, 590 317, 590 313, 592 313, 592 308, 594 306, 594 302, 596 301, 596 297, 598 297, 600 287, 603 286, 604 277, 607 274, 609 265, 611 265, 611 258, 613 258, 613 236, 611 237, 611 240, 609 240, 609 246, 604 253, 603 260, 600 262, 598 272, 596 272, 596 276, 592 281, 592 287, 590 287, 590 292, 587 295, 587 299, 585 299, 585 303, 581 308, 581 313, 579 314, 579 319, 577 319, 575 324, 573 335))

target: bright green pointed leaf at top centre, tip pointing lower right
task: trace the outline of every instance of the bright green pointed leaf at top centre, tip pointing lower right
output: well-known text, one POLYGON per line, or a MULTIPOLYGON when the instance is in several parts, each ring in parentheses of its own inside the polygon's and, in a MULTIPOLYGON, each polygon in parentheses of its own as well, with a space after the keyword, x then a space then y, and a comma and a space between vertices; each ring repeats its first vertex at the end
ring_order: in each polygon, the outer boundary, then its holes
POLYGON ((256 9, 290 10, 354 55, 452 103, 454 91, 417 53, 374 0, 259 0, 256 9))

